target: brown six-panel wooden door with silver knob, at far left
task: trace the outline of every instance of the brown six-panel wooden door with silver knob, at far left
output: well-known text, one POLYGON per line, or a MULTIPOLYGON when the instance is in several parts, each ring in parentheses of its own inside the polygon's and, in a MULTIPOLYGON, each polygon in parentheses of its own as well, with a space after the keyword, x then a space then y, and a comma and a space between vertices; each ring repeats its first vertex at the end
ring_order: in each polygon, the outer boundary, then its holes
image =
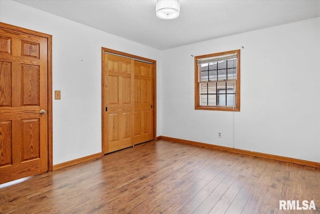
POLYGON ((47 43, 0 29, 0 183, 47 171, 47 43))

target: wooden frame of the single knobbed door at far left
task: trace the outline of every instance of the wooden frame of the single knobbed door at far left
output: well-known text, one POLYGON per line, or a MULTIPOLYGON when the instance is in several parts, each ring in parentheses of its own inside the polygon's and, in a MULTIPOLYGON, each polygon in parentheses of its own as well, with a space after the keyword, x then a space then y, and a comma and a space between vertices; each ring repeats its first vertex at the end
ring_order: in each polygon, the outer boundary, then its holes
POLYGON ((16 31, 16 32, 21 32, 24 34, 30 34, 30 35, 34 35, 37 37, 42 37, 42 38, 46 38, 47 39, 47 85, 48 85, 48 100, 47 100, 47 104, 48 104, 48 109, 47 109, 47 115, 48 115, 48 171, 52 171, 53 169, 53 162, 52 162, 52 36, 48 35, 48 34, 44 34, 44 33, 40 33, 37 31, 32 31, 29 29, 25 29, 25 28, 21 28, 21 27, 17 27, 14 25, 9 25, 6 23, 2 23, 0 22, 0 28, 3 29, 7 29, 7 30, 11 30, 11 31, 16 31))

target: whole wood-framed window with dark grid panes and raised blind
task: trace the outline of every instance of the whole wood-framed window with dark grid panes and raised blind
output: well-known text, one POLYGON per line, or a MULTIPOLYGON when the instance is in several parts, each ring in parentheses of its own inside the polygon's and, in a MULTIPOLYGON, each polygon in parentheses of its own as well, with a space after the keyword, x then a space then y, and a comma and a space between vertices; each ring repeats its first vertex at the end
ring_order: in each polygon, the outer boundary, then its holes
POLYGON ((240 50, 197 56, 195 109, 240 111, 240 50))

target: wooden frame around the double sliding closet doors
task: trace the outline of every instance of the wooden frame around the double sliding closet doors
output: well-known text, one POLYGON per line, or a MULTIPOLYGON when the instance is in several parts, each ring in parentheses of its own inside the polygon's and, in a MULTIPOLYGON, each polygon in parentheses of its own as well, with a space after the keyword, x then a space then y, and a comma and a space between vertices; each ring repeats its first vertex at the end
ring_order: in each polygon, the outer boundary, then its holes
POLYGON ((149 62, 149 63, 153 63, 153 77, 152 77, 152 95, 153 95, 153 140, 156 140, 156 61, 155 60, 151 60, 151 59, 147 59, 144 57, 139 57, 139 56, 135 56, 132 54, 128 54, 128 53, 124 53, 124 52, 120 52, 120 51, 115 51, 112 49, 108 49, 108 48, 101 48, 101 155, 104 155, 104 141, 105 141, 105 136, 104 136, 104 111, 105 111, 105 106, 104 106, 104 87, 105 87, 105 72, 104 72, 104 53, 110 53, 110 54, 115 54, 115 55, 119 55, 122 57, 128 57, 128 58, 132 58, 132 59, 136 59, 136 60, 141 60, 141 61, 145 61, 145 62, 149 62))

